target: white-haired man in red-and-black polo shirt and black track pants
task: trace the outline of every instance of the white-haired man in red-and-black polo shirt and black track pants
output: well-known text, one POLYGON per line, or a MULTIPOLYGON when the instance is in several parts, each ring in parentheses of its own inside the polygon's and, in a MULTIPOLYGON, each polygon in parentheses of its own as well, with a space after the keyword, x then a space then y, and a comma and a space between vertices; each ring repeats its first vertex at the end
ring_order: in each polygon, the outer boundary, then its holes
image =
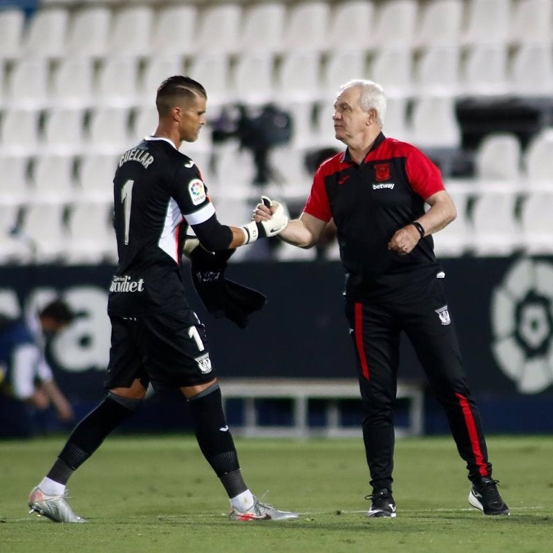
MULTIPOLYGON (((470 505, 486 515, 507 515, 497 480, 491 477, 480 412, 467 385, 444 294, 445 273, 433 252, 431 234, 456 218, 455 205, 438 167, 411 144, 382 133, 386 97, 381 86, 367 80, 348 82, 334 107, 335 136, 346 151, 317 169, 303 213, 279 238, 312 247, 331 218, 336 225, 373 487, 367 516, 396 516, 393 407, 402 331, 467 463, 470 505)), ((260 204, 255 220, 268 221, 270 213, 260 204)))

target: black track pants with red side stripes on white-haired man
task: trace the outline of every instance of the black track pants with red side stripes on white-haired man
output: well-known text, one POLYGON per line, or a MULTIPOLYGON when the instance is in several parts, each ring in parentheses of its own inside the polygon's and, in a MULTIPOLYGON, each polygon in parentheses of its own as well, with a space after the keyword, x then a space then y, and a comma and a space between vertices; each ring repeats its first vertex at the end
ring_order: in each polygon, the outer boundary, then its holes
POLYGON ((402 331, 413 344, 431 390, 444 406, 459 454, 467 462, 469 479, 491 476, 480 413, 467 386, 442 279, 432 276, 423 283, 420 279, 406 281, 397 294, 387 293, 382 300, 346 299, 346 316, 357 353, 371 485, 391 489, 393 482, 393 404, 402 331))

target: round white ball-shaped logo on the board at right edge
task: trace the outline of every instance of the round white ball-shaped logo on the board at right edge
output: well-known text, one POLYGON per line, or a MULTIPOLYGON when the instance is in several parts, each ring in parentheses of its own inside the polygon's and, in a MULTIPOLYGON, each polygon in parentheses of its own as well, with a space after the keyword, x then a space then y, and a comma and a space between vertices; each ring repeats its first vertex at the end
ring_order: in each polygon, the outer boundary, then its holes
POLYGON ((553 383, 553 265, 522 259, 491 299, 492 351, 521 393, 553 383))

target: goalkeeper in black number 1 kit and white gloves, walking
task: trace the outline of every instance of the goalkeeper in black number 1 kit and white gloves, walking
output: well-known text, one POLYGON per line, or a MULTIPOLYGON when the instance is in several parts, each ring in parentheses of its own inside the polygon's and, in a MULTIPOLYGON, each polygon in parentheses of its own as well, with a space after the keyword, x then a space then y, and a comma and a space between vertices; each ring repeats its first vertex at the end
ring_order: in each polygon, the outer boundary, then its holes
POLYGON ((138 409, 149 384, 179 388, 188 400, 200 449, 229 496, 232 521, 298 518, 259 502, 243 480, 205 328, 189 307, 182 284, 180 261, 191 227, 205 248, 197 241, 187 247, 203 301, 216 315, 245 326, 247 315, 261 308, 264 298, 224 279, 228 250, 274 236, 288 224, 283 207, 271 206, 268 198, 264 203, 270 206, 271 221, 250 221, 242 227, 219 223, 200 170, 178 150, 183 141, 198 138, 206 102, 205 88, 189 77, 162 82, 156 96, 156 132, 126 151, 115 171, 119 264, 108 302, 112 330, 107 395, 77 424, 53 467, 31 491, 30 511, 53 521, 84 522, 66 502, 66 483, 138 409))

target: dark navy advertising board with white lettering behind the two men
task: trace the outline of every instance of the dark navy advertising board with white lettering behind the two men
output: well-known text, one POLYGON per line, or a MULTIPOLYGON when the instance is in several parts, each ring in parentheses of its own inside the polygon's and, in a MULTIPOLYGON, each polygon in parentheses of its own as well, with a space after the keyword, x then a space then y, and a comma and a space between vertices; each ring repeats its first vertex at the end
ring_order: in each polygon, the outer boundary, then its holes
MULTIPOLYGON (((449 317, 456 324, 480 409, 490 412, 485 420, 497 431, 518 431, 521 425, 552 429, 543 409, 553 410, 553 259, 467 257, 442 263, 449 317), (533 413, 525 420, 527 409, 533 413)), ((0 269, 0 312, 19 315, 62 294, 79 314, 49 349, 57 382, 75 402, 104 395, 110 343, 106 301, 113 270, 107 265, 0 269)), ((229 265, 227 278, 268 297, 246 330, 208 315, 193 291, 187 266, 183 276, 190 303, 207 327, 212 362, 221 377, 355 376, 339 263, 229 265)), ((402 344, 400 377, 424 379, 407 341, 402 344)))

